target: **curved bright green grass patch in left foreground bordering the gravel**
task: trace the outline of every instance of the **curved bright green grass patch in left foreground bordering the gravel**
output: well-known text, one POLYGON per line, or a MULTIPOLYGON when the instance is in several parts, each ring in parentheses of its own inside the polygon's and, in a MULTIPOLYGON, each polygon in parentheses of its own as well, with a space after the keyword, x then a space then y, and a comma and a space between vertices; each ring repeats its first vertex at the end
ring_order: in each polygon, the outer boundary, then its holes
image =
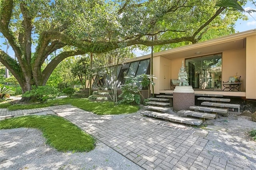
POLYGON ((38 128, 46 142, 58 151, 88 152, 94 149, 94 138, 62 117, 24 116, 1 121, 0 129, 38 128))

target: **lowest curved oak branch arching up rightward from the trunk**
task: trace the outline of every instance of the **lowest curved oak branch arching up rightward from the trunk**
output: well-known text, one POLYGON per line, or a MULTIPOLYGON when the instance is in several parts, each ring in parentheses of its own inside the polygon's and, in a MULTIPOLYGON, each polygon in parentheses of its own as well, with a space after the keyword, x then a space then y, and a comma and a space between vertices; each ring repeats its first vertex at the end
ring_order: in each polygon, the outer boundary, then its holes
POLYGON ((84 51, 64 51, 57 55, 50 63, 44 68, 42 71, 42 85, 45 85, 48 78, 50 77, 52 71, 57 67, 57 65, 67 57, 74 56, 74 55, 82 55, 85 54, 84 51))

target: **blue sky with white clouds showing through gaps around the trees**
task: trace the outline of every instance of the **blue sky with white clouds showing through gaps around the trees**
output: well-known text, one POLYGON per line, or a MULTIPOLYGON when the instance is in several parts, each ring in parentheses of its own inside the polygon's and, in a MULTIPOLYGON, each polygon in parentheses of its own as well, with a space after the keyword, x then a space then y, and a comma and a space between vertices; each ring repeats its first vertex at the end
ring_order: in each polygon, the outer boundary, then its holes
MULTIPOLYGON (((249 8, 256 10, 256 6, 254 4, 252 4, 252 2, 248 2, 245 6, 243 6, 243 8, 245 10, 247 10, 249 8)), ((248 16, 248 20, 246 20, 246 21, 238 20, 236 22, 236 27, 235 27, 236 32, 243 32, 243 31, 247 31, 247 30, 256 29, 256 12, 252 13, 251 15, 249 15, 248 13, 245 13, 245 14, 248 16)), ((0 38, 0 45, 2 45, 2 43, 4 43, 4 42, 5 42, 4 38, 0 38)), ((4 50, 6 52, 5 45, 2 45, 2 47, 0 46, 0 49, 4 50)), ((34 50, 32 49, 32 51, 34 51, 34 50)), ((141 51, 139 49, 135 49, 133 52, 135 53, 135 55, 137 57, 150 53, 150 52, 141 51)), ((14 57, 14 51, 12 51, 11 47, 8 49, 8 54, 11 57, 14 57)))

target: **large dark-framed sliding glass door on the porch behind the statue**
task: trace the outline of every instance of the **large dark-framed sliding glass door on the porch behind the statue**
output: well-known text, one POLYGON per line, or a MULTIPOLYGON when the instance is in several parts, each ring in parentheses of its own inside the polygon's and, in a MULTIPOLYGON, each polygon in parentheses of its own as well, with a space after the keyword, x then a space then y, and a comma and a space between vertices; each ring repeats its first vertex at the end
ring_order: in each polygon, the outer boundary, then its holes
POLYGON ((188 83, 194 89, 221 89, 222 54, 185 60, 188 83))

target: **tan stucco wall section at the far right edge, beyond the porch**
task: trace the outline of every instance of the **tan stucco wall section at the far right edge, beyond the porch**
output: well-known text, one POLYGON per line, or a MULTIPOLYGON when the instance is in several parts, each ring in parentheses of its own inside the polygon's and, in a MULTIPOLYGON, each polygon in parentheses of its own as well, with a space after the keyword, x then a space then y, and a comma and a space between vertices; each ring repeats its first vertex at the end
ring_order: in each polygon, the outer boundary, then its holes
POLYGON ((256 36, 246 38, 246 99, 256 99, 256 36))

